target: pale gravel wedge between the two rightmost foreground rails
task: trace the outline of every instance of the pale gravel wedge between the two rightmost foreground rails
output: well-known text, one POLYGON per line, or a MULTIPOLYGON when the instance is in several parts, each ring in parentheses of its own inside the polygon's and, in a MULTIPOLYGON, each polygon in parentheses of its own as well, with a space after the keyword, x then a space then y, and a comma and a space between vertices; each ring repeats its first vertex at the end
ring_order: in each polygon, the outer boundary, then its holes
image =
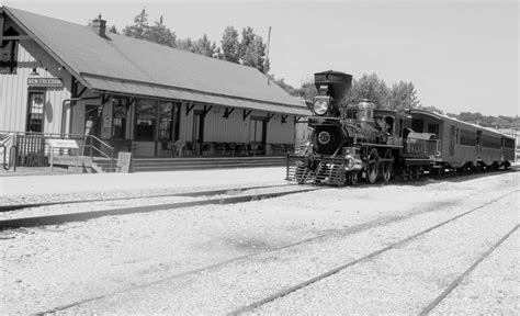
POLYGON ((516 200, 509 195, 255 312, 418 315, 518 224, 516 200))

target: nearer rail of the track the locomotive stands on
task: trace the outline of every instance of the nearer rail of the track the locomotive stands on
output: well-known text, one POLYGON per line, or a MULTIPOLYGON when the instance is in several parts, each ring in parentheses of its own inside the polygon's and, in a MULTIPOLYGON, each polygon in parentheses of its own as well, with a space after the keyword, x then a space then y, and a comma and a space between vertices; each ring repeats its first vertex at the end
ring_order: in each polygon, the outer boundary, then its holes
POLYGON ((309 192, 309 191, 316 191, 316 190, 320 190, 320 189, 319 188, 305 188, 305 189, 299 189, 299 190, 289 191, 289 192, 260 193, 260 194, 230 196, 230 198, 210 199, 210 200, 202 200, 202 201, 165 203, 165 204, 158 204, 158 205, 144 205, 144 206, 134 206, 134 207, 121 207, 121 208, 112 208, 112 210, 88 211, 88 212, 78 212, 78 213, 1 219, 0 230, 13 229, 13 228, 20 228, 20 227, 35 227, 35 226, 41 226, 41 225, 56 225, 56 224, 63 224, 63 223, 69 223, 69 222, 82 222, 82 221, 92 219, 92 218, 102 217, 102 216, 109 216, 109 215, 148 213, 148 212, 162 211, 162 210, 174 210, 174 208, 184 208, 184 207, 203 206, 203 205, 212 205, 212 204, 224 205, 224 204, 245 203, 245 202, 250 202, 250 201, 272 199, 272 198, 279 198, 283 195, 309 192))

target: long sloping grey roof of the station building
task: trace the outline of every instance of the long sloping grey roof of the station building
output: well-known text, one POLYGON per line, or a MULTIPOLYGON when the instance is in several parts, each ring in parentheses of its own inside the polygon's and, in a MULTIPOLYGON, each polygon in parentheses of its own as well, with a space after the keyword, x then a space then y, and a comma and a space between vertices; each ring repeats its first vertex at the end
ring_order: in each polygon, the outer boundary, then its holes
POLYGON ((2 10, 86 87, 309 115, 305 102, 256 68, 3 7, 2 10))

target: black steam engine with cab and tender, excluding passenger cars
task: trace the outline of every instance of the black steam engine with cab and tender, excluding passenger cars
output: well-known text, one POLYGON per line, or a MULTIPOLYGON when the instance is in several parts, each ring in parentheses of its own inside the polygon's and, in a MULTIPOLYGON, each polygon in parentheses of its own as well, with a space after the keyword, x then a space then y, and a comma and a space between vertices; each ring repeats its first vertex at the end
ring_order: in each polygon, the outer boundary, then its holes
POLYGON ((412 177, 430 168, 437 148, 433 135, 414 133, 406 111, 376 109, 370 100, 341 106, 351 82, 352 76, 340 71, 315 74, 318 95, 309 105, 310 139, 302 153, 287 156, 287 180, 387 182, 394 174, 412 177))

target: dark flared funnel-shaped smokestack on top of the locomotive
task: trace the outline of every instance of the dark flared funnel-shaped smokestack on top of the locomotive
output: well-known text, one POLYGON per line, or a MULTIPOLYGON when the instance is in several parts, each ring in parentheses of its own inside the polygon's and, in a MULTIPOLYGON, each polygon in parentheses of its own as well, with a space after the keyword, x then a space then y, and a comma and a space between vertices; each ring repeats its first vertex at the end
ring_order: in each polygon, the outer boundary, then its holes
POLYGON ((327 87, 327 94, 334 98, 334 105, 339 108, 341 99, 352 86, 352 75, 334 70, 317 72, 314 74, 314 86, 320 94, 323 88, 327 87))

